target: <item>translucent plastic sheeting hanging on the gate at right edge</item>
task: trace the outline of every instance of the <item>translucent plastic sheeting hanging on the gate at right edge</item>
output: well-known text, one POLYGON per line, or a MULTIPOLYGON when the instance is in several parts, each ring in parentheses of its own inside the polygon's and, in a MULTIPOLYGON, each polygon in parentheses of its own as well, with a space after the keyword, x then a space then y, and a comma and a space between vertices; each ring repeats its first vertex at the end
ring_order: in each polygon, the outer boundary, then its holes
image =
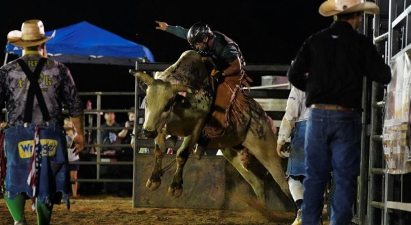
POLYGON ((382 144, 388 173, 406 174, 411 172, 408 135, 411 51, 392 59, 390 66, 393 78, 387 88, 382 144))

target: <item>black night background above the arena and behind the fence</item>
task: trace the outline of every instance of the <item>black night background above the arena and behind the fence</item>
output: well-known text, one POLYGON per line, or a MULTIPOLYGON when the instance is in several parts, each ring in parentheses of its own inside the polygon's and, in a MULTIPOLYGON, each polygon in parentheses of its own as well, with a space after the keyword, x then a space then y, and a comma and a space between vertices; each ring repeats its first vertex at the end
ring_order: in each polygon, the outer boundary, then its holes
MULTIPOLYGON (((332 18, 318 12, 322 0, 301 1, 5 1, 2 3, 0 43, 7 34, 21 29, 29 19, 40 19, 46 31, 88 21, 97 27, 149 48, 155 62, 175 62, 190 49, 188 42, 155 29, 155 21, 190 28, 208 23, 240 46, 247 63, 290 64, 310 34, 328 27, 332 18)), ((58 35, 58 34, 57 34, 58 35)), ((16 59, 9 56, 8 62, 16 59)), ((3 64, 4 53, 0 54, 3 64)), ((79 92, 134 92, 134 77, 127 66, 66 64, 79 92)), ((252 85, 260 75, 249 74, 252 85)), ((95 99, 95 97, 90 97, 95 99)), ((102 108, 128 109, 133 98, 105 98, 102 108)), ((86 101, 86 100, 84 100, 86 101)), ((95 105, 93 105, 95 108, 95 105)))

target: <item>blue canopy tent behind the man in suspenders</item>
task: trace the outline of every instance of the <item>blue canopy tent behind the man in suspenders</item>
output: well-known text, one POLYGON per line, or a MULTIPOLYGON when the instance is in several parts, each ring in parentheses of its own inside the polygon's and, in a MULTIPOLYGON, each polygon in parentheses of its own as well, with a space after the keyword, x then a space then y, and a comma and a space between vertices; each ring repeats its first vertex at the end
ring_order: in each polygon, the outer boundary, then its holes
MULTIPOLYGON (((51 36, 53 31, 47 31, 51 36)), ((21 47, 7 44, 8 54, 21 55, 21 47)), ((49 58, 62 63, 109 64, 135 66, 136 61, 154 62, 151 51, 86 21, 56 29, 55 37, 47 42, 49 58)))

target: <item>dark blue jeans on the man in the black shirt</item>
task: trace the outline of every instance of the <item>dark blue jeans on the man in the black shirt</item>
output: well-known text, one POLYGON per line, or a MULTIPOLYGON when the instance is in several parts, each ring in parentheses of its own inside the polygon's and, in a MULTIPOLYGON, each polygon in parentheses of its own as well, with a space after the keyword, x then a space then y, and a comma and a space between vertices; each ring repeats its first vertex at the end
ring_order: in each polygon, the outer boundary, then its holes
POLYGON ((336 183, 331 224, 347 225, 351 222, 351 207, 360 172, 360 139, 360 114, 310 109, 306 130, 303 224, 319 224, 331 168, 336 183))

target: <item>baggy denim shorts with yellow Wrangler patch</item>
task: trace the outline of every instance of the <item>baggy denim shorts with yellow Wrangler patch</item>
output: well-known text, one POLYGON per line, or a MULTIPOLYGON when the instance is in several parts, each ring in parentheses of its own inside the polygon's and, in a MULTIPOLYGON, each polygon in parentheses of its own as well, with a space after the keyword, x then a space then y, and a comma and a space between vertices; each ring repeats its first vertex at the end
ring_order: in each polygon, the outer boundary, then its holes
MULTIPOLYGON (((29 124, 28 127, 18 125, 4 131, 7 159, 5 191, 10 199, 13 199, 17 194, 27 194, 29 198, 33 196, 27 178, 34 133, 36 132, 35 127, 35 124, 29 124)), ((66 185, 68 184, 66 170, 69 163, 64 129, 59 124, 49 124, 48 126, 42 124, 42 127, 39 131, 42 161, 39 174, 38 203, 60 204, 61 198, 64 198, 69 208, 69 196, 66 194, 66 185)))

